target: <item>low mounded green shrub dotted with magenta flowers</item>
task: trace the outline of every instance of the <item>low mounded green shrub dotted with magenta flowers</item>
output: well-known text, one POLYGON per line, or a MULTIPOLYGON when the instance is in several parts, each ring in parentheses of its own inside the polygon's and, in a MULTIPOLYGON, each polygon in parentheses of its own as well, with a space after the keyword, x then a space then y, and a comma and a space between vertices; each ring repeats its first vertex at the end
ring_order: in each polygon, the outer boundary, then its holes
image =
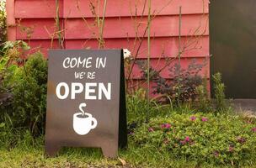
POLYGON ((256 123, 226 114, 177 114, 154 118, 131 135, 137 146, 155 146, 198 163, 240 165, 256 155, 256 123))

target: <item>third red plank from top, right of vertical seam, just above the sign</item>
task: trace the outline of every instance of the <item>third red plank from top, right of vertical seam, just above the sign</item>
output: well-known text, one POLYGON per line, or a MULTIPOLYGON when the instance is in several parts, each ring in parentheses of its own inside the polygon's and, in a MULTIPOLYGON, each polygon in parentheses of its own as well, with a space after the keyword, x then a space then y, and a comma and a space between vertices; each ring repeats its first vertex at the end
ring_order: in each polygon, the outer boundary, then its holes
MULTIPOLYGON (((132 55, 136 55, 140 45, 138 39, 105 39, 104 48, 106 49, 123 49, 131 50, 132 55)), ((182 48, 183 57, 205 57, 209 55, 209 36, 183 37, 182 48)), ((67 49, 98 49, 99 42, 97 39, 67 39, 67 49)), ((152 39, 151 54, 152 58, 175 57, 179 53, 179 39, 177 37, 170 38, 154 38, 152 39)), ((147 39, 141 43, 138 58, 147 58, 147 39)))

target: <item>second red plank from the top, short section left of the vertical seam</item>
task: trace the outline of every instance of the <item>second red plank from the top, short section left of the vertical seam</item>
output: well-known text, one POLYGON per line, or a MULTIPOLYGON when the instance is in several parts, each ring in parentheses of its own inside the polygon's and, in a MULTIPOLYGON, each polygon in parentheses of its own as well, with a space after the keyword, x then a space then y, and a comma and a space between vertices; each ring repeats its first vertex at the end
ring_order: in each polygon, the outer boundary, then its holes
POLYGON ((17 27, 17 39, 56 39, 57 32, 54 18, 22 19, 17 27))

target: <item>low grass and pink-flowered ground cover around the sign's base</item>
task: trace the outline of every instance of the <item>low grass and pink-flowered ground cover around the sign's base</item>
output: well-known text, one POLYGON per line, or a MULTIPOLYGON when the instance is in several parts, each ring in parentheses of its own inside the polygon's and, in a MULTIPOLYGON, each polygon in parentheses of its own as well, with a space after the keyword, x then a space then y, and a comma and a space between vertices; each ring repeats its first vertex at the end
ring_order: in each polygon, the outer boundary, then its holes
MULTIPOLYGON (((161 109, 149 123, 131 127, 129 147, 108 160, 100 149, 62 149, 46 158, 44 136, 2 125, 3 167, 227 167, 253 166, 256 123, 235 114, 193 113, 161 109)), ((158 109, 159 110, 159 109, 158 109)), ((134 123, 133 123, 134 124, 134 123)))

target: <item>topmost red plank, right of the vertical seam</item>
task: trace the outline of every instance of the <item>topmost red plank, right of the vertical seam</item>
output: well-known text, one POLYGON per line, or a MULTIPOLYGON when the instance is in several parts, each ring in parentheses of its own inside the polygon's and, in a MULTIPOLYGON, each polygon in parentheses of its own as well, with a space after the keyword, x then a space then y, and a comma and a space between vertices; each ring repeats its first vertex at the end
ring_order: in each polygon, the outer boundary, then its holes
MULTIPOLYGON (((64 1, 64 18, 92 18, 93 4, 96 13, 103 15, 104 1, 98 0, 65 0, 64 1), (99 9, 98 10, 98 6, 99 9)), ((108 0, 106 8, 106 17, 130 17, 141 16, 143 14, 145 0, 108 0)), ((159 15, 179 14, 179 6, 182 6, 183 14, 208 13, 209 0, 152 0, 152 11, 159 15)), ((147 15, 147 4, 143 15, 147 15)))

